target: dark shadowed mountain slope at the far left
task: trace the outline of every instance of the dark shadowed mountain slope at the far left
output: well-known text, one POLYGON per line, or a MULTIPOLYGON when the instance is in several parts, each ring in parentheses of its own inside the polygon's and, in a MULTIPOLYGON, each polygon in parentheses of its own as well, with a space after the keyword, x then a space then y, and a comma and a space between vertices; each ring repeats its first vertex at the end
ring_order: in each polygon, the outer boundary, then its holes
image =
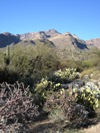
POLYGON ((4 32, 0 34, 0 48, 6 47, 10 44, 17 44, 20 41, 20 36, 13 35, 9 32, 4 32))

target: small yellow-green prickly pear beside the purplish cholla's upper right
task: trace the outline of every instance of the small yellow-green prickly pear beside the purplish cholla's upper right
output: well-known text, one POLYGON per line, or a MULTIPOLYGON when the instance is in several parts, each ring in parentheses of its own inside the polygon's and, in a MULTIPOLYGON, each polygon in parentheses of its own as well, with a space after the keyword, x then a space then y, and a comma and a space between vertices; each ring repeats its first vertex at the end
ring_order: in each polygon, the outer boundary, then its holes
POLYGON ((60 83, 49 81, 47 78, 42 78, 40 83, 37 83, 34 88, 35 95, 39 104, 43 105, 47 97, 53 92, 61 89, 60 83))

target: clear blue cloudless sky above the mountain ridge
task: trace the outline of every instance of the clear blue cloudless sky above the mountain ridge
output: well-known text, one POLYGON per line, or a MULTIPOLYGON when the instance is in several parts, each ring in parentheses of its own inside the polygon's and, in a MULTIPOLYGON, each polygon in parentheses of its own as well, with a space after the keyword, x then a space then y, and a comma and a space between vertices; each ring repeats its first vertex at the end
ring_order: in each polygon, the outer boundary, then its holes
POLYGON ((0 33, 49 29, 100 38, 100 0, 0 0, 0 33))

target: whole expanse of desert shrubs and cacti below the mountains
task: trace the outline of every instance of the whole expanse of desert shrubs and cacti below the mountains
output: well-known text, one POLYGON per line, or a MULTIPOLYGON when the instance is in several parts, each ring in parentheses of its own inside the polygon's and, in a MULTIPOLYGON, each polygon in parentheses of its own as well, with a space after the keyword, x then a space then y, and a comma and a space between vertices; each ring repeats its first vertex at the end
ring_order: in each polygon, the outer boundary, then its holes
POLYGON ((84 132, 100 122, 100 50, 38 43, 0 49, 0 130, 84 132))

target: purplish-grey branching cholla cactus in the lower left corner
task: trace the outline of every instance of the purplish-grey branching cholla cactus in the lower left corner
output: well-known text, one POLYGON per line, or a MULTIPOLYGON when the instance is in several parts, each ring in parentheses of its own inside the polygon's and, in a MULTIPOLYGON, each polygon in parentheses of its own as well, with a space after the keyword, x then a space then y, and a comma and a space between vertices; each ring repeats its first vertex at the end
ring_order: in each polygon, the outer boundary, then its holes
POLYGON ((16 82, 14 85, 0 84, 0 125, 27 123, 38 115, 38 106, 33 103, 29 87, 16 82))

